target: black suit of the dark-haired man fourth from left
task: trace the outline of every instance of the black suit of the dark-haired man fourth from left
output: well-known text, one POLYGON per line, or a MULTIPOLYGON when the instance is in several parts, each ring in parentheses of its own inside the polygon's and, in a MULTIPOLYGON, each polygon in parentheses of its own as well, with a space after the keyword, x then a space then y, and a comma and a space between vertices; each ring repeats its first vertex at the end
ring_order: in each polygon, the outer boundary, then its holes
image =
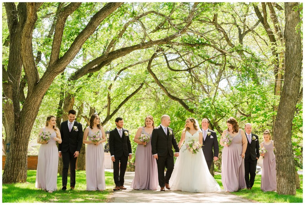
POLYGON ((128 156, 131 153, 131 143, 129 140, 128 130, 122 128, 122 137, 120 137, 117 128, 109 133, 109 151, 110 155, 114 155, 113 162, 113 180, 116 186, 124 185, 124 175, 127 168, 128 156))

